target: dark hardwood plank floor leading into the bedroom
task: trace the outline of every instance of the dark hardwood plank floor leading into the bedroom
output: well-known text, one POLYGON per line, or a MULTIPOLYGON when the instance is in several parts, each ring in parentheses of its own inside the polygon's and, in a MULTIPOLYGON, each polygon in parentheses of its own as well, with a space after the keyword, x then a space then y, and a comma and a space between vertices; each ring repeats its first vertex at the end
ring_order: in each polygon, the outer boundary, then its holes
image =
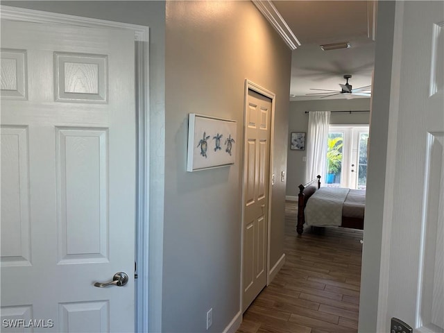
POLYGON ((362 231, 305 228, 298 236, 297 209, 287 201, 285 264, 244 313, 237 333, 357 332, 362 231))

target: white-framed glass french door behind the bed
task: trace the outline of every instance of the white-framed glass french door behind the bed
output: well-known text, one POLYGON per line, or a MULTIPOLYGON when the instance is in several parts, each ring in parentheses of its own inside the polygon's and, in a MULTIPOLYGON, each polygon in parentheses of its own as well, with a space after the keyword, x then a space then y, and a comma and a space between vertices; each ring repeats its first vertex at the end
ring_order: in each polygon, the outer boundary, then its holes
POLYGON ((330 126, 325 183, 366 189, 368 126, 330 126))

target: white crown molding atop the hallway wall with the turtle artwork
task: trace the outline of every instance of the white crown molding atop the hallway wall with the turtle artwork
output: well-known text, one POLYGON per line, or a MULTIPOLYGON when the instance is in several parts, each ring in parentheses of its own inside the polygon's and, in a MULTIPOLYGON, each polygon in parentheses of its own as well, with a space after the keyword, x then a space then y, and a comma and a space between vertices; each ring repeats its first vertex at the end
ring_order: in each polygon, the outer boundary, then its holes
POLYGON ((262 15, 271 23, 273 28, 278 31, 282 40, 287 43, 291 50, 296 50, 298 46, 300 46, 300 42, 298 38, 294 35, 291 28, 288 26, 287 22, 285 22, 284 18, 280 15, 278 10, 275 8, 271 0, 251 0, 259 9, 259 12, 262 12, 262 15))

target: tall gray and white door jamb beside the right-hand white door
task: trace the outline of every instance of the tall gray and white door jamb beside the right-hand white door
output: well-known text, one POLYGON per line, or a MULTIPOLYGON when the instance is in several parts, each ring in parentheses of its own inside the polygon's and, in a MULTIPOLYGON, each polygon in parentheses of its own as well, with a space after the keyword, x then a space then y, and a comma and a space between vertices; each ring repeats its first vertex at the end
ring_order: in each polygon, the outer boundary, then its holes
POLYGON ((404 3, 402 1, 377 3, 377 17, 379 18, 376 28, 384 29, 385 34, 377 37, 379 49, 375 50, 375 70, 372 79, 374 94, 370 100, 368 155, 372 166, 369 171, 375 171, 367 174, 367 183, 372 187, 367 188, 367 197, 372 201, 368 202, 369 207, 366 212, 372 214, 366 215, 364 221, 359 332, 387 330, 391 219, 400 110, 399 59, 402 55, 404 3), (383 153, 380 153, 381 151, 383 153), (373 155, 377 157, 372 157, 373 155))

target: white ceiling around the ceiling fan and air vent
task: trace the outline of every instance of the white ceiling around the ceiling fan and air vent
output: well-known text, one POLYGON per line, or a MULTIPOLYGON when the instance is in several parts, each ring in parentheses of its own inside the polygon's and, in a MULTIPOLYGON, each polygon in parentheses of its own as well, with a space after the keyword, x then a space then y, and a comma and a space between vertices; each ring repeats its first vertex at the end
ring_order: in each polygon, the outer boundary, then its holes
MULTIPOLYGON (((344 74, 352 74, 348 82, 353 89, 371 84, 375 42, 368 37, 368 30, 373 28, 373 1, 272 3, 301 44, 292 53, 291 101, 321 99, 323 95, 306 96, 318 92, 310 88, 340 91, 339 83, 345 84, 344 74), (319 47, 336 42, 350 42, 351 47, 332 51, 319 47)), ((325 99, 344 98, 350 98, 350 94, 325 99)))

